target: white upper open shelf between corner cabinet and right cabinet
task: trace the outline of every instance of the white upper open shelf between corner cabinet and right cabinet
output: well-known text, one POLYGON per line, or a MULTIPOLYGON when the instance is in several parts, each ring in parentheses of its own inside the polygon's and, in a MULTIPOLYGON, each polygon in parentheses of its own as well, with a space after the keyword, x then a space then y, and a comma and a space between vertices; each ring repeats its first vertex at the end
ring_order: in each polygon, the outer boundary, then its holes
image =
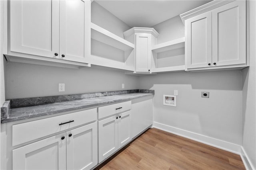
POLYGON ((154 45, 152 47, 152 51, 155 53, 161 53, 164 51, 169 51, 169 50, 178 49, 182 47, 185 47, 185 37, 174 39, 166 43, 154 45))

